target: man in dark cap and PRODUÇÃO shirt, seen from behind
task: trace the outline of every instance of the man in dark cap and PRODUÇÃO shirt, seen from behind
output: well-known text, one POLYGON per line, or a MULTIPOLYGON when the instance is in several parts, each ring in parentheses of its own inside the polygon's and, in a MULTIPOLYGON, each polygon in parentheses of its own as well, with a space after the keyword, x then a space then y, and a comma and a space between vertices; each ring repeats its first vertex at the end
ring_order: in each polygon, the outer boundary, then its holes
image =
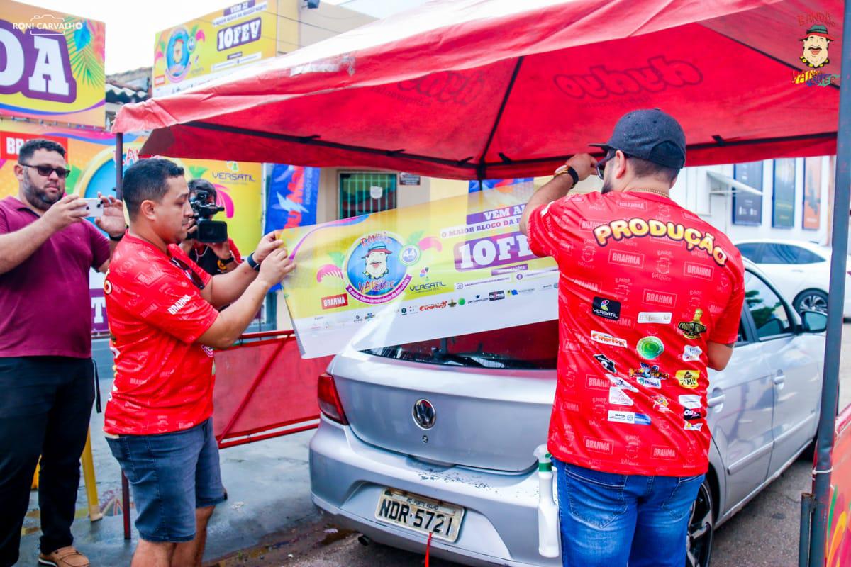
POLYGON ((733 353, 740 253, 669 196, 683 128, 620 118, 606 156, 571 157, 529 200, 528 244, 556 259, 559 354, 548 447, 562 558, 573 567, 682 567, 708 468, 707 366, 733 353), (568 196, 594 169, 603 191, 568 196))

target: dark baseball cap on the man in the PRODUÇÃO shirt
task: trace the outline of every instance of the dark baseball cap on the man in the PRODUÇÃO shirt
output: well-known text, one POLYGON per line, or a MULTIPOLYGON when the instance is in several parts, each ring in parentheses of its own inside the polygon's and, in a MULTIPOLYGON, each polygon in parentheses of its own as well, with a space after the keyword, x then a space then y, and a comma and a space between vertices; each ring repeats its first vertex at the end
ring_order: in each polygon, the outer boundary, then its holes
POLYGON ((660 166, 681 169, 686 163, 686 134, 677 119, 658 108, 631 111, 614 125, 605 150, 620 150, 660 166))

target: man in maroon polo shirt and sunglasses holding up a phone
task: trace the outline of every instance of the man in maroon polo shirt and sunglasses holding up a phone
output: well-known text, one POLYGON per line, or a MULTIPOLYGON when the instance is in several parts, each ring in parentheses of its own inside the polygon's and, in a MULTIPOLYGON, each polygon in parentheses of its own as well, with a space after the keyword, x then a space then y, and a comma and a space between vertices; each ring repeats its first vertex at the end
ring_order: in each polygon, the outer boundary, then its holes
POLYGON ((113 197, 95 220, 112 242, 85 222, 68 172, 61 145, 33 139, 14 166, 18 196, 0 201, 0 567, 18 560, 39 456, 38 563, 89 564, 71 546, 94 400, 89 268, 106 272, 126 225, 113 197))

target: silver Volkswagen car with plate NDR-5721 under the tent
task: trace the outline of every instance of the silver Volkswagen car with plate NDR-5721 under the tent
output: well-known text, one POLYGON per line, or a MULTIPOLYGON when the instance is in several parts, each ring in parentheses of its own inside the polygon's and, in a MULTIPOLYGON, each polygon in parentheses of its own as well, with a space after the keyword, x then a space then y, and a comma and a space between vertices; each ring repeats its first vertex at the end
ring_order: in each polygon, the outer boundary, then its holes
MULTIPOLYGON (((826 317, 802 319, 745 262, 739 342, 710 371, 710 468, 688 564, 713 530, 805 451, 819 418, 826 317)), ((538 553, 538 479, 556 388, 556 321, 368 351, 319 380, 311 490, 341 526, 468 565, 560 565, 538 553)))

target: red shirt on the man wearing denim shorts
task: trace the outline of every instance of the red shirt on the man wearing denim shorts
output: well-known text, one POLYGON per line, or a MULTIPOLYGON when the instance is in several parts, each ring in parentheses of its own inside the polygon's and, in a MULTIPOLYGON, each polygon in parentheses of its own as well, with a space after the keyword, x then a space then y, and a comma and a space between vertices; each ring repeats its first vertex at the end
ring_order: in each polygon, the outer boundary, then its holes
POLYGON ((195 341, 219 312, 187 270, 204 286, 212 280, 175 245, 166 254, 128 234, 112 254, 104 281, 115 356, 107 434, 170 433, 213 415, 213 350, 195 341))

